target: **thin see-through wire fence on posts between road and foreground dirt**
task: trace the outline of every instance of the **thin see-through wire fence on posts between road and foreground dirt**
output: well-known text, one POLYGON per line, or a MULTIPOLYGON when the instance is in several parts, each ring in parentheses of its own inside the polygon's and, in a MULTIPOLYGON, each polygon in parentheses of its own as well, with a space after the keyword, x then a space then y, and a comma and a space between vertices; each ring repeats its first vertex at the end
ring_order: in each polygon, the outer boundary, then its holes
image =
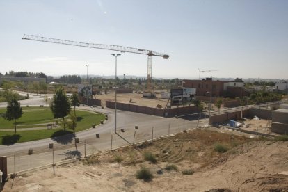
MULTIPOLYGON (((208 120, 201 121, 177 120, 172 123, 159 123, 141 127, 119 128, 117 134, 114 132, 96 134, 95 138, 81 140, 75 143, 72 139, 69 144, 49 144, 41 150, 15 153, 7 157, 8 175, 13 173, 24 173, 38 168, 53 167, 68 161, 74 161, 91 154, 115 150, 118 147, 153 141, 156 138, 177 134, 179 132, 207 125, 208 120), (149 128, 150 127, 150 128, 149 128)), ((76 139, 77 141, 77 139, 76 139)))

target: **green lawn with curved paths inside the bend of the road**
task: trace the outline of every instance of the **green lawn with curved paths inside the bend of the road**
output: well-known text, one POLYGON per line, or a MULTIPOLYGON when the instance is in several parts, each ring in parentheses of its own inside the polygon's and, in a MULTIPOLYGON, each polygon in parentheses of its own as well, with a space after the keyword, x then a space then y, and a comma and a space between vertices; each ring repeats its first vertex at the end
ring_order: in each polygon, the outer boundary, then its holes
MULTIPOLYGON (((5 110, 6 109, 0 109, 0 113, 5 112, 5 110)), ((43 108, 23 107, 22 110, 24 111, 24 114, 22 118, 18 120, 19 122, 21 122, 20 125, 25 125, 25 124, 33 125, 35 123, 46 123, 46 122, 54 121, 51 111, 49 109, 46 110, 43 108), (38 109, 38 110, 32 110, 31 112, 24 111, 26 109, 30 109, 30 110, 38 109), (33 120, 29 119, 29 117, 33 118, 33 120), (36 117, 39 117, 40 120, 38 120, 36 117)), ((102 113, 95 114, 95 113, 90 113, 88 111, 77 110, 76 115, 77 115, 76 131, 83 131, 85 129, 88 129, 93 124, 99 125, 100 121, 105 119, 105 116, 102 113)), ((3 118, 0 117, 0 127, 2 129, 9 128, 7 127, 9 123, 10 123, 10 128, 13 128, 12 122, 8 122, 7 120, 4 120, 3 118), (2 124, 6 126, 3 126, 2 124)), ((33 126, 26 126, 26 127, 33 127, 33 126)), ((34 126, 34 127, 37 127, 37 126, 34 126)), ((43 127, 43 126, 40 126, 40 127, 43 127)), ((51 129, 51 130, 45 129, 45 130, 35 130, 35 131, 17 131, 16 134, 14 134, 14 131, 0 131, 0 145, 12 145, 14 143, 21 143, 25 141, 35 141, 35 140, 39 140, 42 138, 52 138, 54 136, 61 136, 64 134, 72 134, 72 130, 66 127, 66 131, 63 131, 63 128, 58 127, 56 129, 51 129)))

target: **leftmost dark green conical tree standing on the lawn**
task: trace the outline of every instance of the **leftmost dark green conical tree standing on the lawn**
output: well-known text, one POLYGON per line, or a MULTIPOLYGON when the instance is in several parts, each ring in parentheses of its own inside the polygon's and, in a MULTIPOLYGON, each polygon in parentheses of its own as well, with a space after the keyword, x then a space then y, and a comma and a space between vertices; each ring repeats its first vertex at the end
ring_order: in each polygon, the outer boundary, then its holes
POLYGON ((11 99, 6 108, 6 120, 14 120, 15 133, 16 133, 16 120, 21 118, 23 112, 20 103, 16 99, 11 99))

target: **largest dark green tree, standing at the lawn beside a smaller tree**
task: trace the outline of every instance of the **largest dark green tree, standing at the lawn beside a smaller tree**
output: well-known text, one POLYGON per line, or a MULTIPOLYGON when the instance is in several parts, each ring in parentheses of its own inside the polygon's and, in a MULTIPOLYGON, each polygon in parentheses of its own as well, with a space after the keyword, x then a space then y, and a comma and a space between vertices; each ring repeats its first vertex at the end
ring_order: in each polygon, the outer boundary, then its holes
POLYGON ((71 104, 63 88, 56 89, 50 108, 54 118, 63 118, 64 131, 66 131, 65 116, 70 113, 71 104))

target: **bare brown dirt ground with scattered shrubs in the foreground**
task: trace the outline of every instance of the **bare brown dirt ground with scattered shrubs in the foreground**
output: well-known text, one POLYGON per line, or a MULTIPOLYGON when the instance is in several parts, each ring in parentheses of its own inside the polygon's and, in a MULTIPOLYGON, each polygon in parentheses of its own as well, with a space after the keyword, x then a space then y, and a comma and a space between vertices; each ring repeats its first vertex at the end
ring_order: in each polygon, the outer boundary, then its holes
POLYGON ((56 175, 52 168, 18 175, 3 191, 288 191, 288 143, 195 129, 57 166, 56 175), (154 175, 149 182, 136 179, 141 166, 154 175))

